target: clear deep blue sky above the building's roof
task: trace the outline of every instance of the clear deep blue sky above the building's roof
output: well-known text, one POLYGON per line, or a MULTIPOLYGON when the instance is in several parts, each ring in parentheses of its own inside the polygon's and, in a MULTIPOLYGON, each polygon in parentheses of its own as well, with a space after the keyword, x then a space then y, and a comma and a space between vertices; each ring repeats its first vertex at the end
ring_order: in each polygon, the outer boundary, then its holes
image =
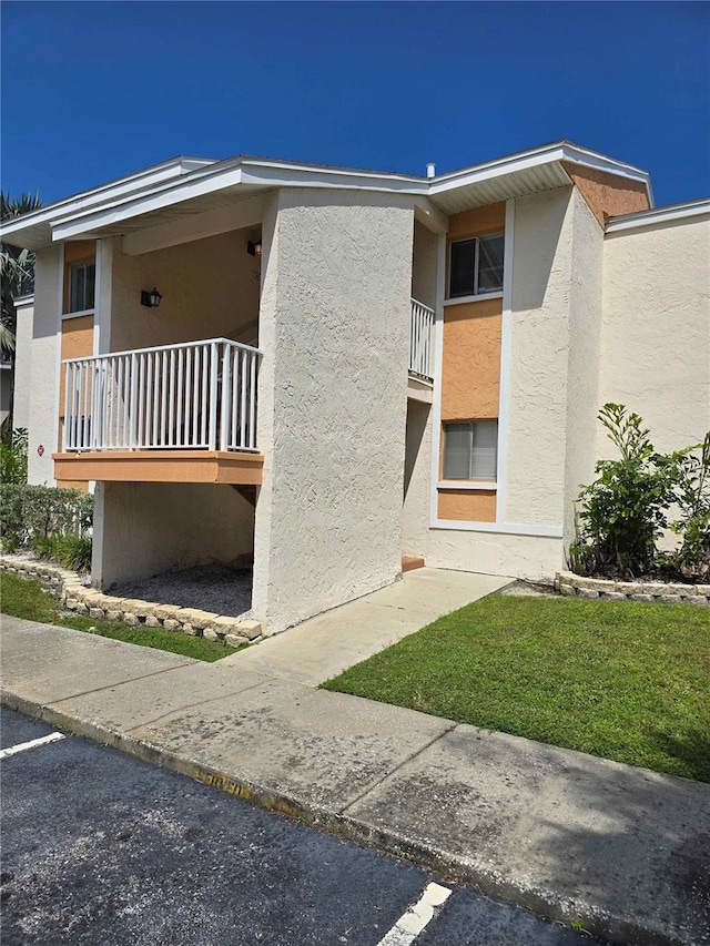
POLYGON ((3 2, 2 187, 175 154, 424 173, 567 138, 710 194, 708 3, 3 2))

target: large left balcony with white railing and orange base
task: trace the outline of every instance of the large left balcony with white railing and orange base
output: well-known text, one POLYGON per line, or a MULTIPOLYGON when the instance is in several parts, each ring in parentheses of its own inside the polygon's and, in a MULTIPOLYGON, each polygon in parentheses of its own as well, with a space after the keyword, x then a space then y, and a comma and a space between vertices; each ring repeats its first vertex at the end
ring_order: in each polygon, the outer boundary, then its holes
POLYGON ((211 338, 63 362, 57 479, 258 485, 260 354, 211 338))

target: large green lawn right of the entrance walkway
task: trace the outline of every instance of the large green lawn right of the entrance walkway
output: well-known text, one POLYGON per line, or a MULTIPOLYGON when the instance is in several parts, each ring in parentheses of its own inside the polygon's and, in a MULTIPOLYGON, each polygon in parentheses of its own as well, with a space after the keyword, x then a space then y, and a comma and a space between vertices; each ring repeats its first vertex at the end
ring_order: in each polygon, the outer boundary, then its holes
POLYGON ((710 782, 710 609, 493 596, 323 684, 710 782))

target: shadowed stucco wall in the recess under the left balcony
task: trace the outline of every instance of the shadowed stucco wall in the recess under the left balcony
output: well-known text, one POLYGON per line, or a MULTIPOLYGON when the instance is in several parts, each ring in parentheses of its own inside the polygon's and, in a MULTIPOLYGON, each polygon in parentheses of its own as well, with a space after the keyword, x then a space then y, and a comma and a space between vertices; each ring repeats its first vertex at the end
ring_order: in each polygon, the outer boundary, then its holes
POLYGON ((92 578, 104 590, 171 568, 231 563, 251 552, 254 510, 231 486, 106 482, 97 486, 92 578))

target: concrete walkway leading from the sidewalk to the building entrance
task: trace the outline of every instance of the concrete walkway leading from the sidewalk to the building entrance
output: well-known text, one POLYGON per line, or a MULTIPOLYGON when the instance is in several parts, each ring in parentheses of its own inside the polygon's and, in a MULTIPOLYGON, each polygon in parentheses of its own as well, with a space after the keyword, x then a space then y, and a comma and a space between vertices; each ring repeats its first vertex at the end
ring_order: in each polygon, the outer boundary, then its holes
POLYGON ((419 568, 395 584, 318 614, 221 662, 317 686, 443 614, 505 588, 511 580, 419 568))

